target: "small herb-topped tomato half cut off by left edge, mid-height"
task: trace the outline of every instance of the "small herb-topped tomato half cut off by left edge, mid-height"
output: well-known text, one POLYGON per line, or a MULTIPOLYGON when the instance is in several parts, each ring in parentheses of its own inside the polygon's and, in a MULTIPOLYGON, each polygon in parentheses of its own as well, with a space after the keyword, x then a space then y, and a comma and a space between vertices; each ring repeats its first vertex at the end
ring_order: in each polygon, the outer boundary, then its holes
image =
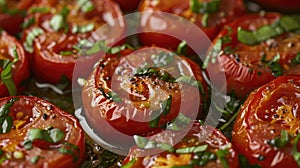
POLYGON ((0 97, 15 95, 20 83, 29 77, 23 46, 6 32, 0 33, 0 97))

